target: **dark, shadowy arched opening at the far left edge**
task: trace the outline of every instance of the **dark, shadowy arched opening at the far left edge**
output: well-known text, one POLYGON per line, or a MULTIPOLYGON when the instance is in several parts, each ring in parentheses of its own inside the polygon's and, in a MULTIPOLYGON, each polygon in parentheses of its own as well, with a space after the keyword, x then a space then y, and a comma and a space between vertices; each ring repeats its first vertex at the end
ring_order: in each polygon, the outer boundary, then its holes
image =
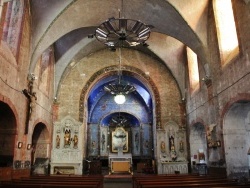
POLYGON ((0 101, 0 167, 12 166, 15 148, 16 118, 8 104, 0 101))

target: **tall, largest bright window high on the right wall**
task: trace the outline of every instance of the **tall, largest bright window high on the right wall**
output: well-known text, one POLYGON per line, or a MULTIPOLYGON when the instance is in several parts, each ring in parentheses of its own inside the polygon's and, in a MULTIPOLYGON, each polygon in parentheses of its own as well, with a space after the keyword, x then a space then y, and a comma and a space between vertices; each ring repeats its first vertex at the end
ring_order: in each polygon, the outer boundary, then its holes
POLYGON ((221 64, 226 65, 239 54, 231 0, 213 0, 221 64))

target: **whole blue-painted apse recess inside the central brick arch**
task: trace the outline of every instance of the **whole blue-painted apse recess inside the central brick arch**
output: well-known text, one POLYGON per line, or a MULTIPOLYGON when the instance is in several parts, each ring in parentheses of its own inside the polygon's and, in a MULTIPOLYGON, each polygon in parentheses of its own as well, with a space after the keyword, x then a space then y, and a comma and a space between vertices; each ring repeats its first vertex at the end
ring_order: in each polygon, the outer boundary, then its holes
POLYGON ((116 83, 117 75, 113 74, 95 83, 88 95, 87 157, 107 161, 109 154, 114 153, 112 134, 117 127, 123 127, 128 134, 128 148, 124 152, 133 156, 134 164, 141 159, 151 160, 154 158, 154 104, 150 84, 139 75, 136 77, 136 73, 123 71, 122 81, 136 90, 126 94, 124 104, 116 104, 114 95, 104 90, 105 85, 116 83))

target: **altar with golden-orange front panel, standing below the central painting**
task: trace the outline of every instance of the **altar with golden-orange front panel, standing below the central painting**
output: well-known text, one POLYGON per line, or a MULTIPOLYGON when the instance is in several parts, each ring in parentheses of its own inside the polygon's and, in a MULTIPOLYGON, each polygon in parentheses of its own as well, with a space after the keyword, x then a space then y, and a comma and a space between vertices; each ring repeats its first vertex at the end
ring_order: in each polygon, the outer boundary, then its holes
POLYGON ((131 153, 119 153, 109 155, 109 174, 129 173, 133 174, 133 161, 131 153))

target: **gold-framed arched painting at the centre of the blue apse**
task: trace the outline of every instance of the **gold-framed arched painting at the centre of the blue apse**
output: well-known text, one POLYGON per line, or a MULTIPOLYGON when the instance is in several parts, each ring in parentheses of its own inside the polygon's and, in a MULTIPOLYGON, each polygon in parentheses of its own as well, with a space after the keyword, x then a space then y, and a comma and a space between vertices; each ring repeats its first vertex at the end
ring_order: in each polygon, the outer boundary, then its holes
POLYGON ((128 131, 122 127, 117 127, 112 131, 112 152, 118 152, 122 148, 123 152, 128 152, 128 131))

